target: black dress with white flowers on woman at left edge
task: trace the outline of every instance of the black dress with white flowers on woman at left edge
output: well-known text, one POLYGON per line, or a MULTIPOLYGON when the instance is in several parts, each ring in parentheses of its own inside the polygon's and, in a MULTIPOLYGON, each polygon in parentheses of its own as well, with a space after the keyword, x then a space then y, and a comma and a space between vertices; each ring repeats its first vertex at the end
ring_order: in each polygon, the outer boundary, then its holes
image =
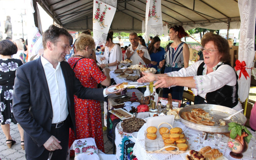
POLYGON ((1 124, 17 124, 12 113, 12 97, 15 72, 22 65, 18 59, 0 59, 1 124))

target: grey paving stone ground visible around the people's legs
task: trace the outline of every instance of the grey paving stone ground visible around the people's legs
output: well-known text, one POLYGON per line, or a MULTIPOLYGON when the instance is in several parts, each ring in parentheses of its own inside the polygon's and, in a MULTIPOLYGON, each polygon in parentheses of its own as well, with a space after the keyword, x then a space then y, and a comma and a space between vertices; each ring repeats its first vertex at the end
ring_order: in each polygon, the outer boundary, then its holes
MULTIPOLYGON (((103 103, 101 103, 101 117, 102 124, 103 122, 103 103)), ((10 124, 10 133, 12 139, 16 140, 16 144, 12 146, 12 148, 8 148, 5 143, 5 135, 0 127, 0 158, 1 160, 26 160, 25 158, 25 150, 21 149, 20 146, 20 133, 16 124, 10 124)), ((113 144, 107 138, 107 131, 103 131, 104 138, 104 147, 106 154, 113 154, 113 144)), ((73 160, 73 159, 70 159, 73 160)))

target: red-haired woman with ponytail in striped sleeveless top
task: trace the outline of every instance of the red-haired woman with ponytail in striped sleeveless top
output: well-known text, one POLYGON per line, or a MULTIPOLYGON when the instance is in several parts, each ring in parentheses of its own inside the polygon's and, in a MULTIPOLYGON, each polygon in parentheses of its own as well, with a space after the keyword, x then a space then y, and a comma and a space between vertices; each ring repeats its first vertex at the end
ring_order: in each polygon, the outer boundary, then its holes
MULTIPOLYGON (((159 62, 162 68, 165 65, 164 73, 179 71, 188 67, 189 49, 188 44, 181 41, 181 38, 188 36, 182 26, 172 26, 169 31, 170 40, 173 41, 164 55, 164 60, 159 62)), ((172 99, 182 100, 183 86, 163 88, 163 97, 167 98, 168 93, 172 94, 172 99)))

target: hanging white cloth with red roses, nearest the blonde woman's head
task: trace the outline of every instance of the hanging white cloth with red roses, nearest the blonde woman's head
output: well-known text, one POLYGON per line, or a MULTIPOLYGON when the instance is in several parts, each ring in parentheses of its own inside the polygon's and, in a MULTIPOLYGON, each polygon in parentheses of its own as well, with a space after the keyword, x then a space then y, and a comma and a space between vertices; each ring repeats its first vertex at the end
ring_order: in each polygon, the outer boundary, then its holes
POLYGON ((93 39, 96 45, 105 45, 108 30, 116 13, 117 0, 93 0, 93 39))

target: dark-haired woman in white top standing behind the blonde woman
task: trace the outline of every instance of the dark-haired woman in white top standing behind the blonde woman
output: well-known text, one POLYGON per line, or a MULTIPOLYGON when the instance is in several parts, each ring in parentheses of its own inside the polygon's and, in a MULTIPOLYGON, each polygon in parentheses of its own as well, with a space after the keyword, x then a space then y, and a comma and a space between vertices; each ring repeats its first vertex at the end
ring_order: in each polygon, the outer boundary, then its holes
POLYGON ((111 71, 116 69, 116 63, 119 65, 120 61, 123 60, 121 47, 113 43, 113 31, 108 32, 104 57, 100 60, 106 60, 106 64, 103 62, 100 67, 109 68, 111 71))

